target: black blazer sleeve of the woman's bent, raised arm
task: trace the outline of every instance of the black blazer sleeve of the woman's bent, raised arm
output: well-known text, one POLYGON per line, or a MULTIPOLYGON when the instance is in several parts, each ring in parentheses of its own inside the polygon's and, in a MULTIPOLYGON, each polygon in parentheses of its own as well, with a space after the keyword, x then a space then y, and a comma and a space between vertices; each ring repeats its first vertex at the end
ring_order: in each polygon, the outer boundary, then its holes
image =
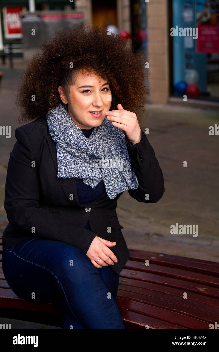
POLYGON ((127 144, 131 166, 134 168, 135 175, 139 182, 139 187, 129 189, 128 193, 138 202, 156 203, 165 191, 163 173, 146 134, 141 130, 140 142, 131 145, 125 133, 125 142, 127 144), (147 194, 148 199, 146 199, 147 194))

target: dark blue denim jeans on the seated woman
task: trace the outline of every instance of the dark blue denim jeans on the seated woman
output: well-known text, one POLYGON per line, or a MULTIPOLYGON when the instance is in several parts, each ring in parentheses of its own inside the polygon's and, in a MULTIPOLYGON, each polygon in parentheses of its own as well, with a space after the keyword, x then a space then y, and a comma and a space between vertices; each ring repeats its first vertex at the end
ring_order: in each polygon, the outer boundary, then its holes
POLYGON ((27 239, 2 251, 2 270, 18 297, 51 302, 63 329, 125 329, 116 304, 119 275, 110 265, 97 269, 78 247, 27 239))

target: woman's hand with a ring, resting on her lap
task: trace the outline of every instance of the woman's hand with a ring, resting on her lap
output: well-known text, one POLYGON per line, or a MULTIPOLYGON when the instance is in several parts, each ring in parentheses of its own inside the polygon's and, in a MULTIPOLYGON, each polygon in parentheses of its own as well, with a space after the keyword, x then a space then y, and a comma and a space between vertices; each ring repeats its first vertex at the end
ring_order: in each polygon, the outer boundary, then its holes
POLYGON ((103 266, 114 265, 114 262, 117 263, 117 258, 115 254, 108 248, 115 246, 116 242, 110 242, 104 240, 104 238, 96 236, 86 253, 88 258, 90 258, 91 263, 96 266, 96 268, 102 268, 103 266), (98 260, 101 258, 100 260, 98 260), (96 263, 95 260, 98 260, 96 263))

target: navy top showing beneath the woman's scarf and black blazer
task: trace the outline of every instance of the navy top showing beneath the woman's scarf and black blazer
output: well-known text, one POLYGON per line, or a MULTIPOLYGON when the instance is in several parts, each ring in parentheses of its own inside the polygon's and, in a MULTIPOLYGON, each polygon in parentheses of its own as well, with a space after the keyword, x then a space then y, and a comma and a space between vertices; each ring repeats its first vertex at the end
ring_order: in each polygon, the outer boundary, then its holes
MULTIPOLYGON (((91 127, 89 130, 85 130, 84 128, 81 128, 81 131, 83 132, 86 138, 89 138, 94 128, 95 127, 91 127)), ((132 145, 132 143, 129 140, 128 140, 128 143, 129 145, 132 145)), ((84 183, 83 178, 76 178, 76 183, 77 183, 77 189, 78 189, 78 199, 80 203, 90 204, 94 199, 96 199, 106 191, 103 180, 101 180, 94 189, 92 189, 90 186, 87 186, 84 183)), ((86 223, 85 228, 91 231, 88 222, 86 223)))

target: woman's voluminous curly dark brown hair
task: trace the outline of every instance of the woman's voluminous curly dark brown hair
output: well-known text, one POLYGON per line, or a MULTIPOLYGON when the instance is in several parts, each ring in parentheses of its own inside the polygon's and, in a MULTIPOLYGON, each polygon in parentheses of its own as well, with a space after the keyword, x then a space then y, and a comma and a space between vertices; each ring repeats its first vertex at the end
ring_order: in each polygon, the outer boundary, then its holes
POLYGON ((148 93, 146 61, 146 56, 140 51, 133 52, 121 36, 108 35, 107 29, 98 25, 65 28, 44 42, 41 50, 25 64, 15 100, 21 109, 18 121, 45 116, 61 102, 58 86, 68 96, 78 71, 89 70, 110 83, 110 109, 117 110, 117 104, 121 103, 141 123, 148 93), (60 58, 55 62, 50 60, 58 55, 60 58))

